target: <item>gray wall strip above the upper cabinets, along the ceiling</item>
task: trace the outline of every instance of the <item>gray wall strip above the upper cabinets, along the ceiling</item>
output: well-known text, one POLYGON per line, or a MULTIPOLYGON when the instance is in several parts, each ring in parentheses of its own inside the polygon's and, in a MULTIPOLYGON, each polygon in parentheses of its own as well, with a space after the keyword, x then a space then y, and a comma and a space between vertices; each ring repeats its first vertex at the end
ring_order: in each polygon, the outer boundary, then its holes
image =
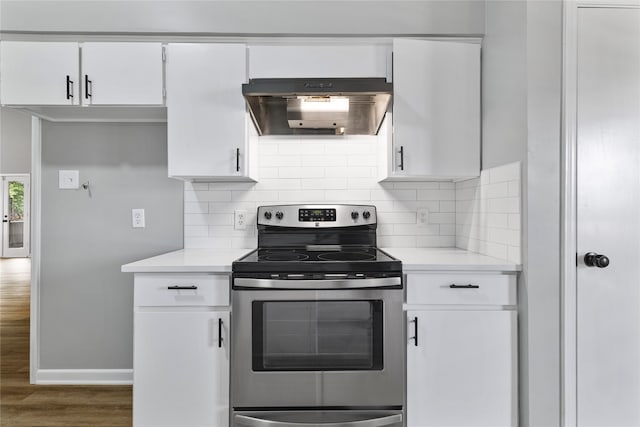
POLYGON ((484 32, 484 2, 32 1, 0 2, 2 31, 210 34, 466 34, 484 32))

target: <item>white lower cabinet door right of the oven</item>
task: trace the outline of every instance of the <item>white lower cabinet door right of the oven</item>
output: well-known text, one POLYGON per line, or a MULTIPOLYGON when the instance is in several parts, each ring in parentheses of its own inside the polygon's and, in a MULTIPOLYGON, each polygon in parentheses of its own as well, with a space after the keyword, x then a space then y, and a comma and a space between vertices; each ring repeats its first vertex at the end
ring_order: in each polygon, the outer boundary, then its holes
POLYGON ((407 317, 409 427, 517 425, 515 311, 424 310, 407 317))

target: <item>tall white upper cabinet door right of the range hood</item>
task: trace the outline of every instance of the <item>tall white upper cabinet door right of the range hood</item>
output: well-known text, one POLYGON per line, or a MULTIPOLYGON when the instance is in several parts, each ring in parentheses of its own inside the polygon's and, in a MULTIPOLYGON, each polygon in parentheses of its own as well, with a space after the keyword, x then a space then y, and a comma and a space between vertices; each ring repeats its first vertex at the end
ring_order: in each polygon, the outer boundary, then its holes
POLYGON ((394 40, 390 162, 398 176, 480 175, 480 45, 394 40))

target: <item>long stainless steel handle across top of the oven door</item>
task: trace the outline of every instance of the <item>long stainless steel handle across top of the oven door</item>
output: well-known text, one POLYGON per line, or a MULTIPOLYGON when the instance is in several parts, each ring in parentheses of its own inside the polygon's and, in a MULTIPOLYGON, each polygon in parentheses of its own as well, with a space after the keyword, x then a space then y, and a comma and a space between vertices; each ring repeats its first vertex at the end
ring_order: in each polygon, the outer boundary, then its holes
POLYGON ((234 287, 258 289, 361 289, 402 286, 401 277, 378 279, 329 279, 329 280, 279 280, 279 279, 233 279, 234 287))

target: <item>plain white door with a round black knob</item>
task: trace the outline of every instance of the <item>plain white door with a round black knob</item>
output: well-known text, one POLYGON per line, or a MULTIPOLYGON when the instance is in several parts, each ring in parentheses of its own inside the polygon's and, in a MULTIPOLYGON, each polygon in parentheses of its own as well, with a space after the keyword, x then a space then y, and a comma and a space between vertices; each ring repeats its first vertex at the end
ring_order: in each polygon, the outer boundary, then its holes
POLYGON ((640 9, 579 9, 577 60, 577 425, 637 427, 640 9))

